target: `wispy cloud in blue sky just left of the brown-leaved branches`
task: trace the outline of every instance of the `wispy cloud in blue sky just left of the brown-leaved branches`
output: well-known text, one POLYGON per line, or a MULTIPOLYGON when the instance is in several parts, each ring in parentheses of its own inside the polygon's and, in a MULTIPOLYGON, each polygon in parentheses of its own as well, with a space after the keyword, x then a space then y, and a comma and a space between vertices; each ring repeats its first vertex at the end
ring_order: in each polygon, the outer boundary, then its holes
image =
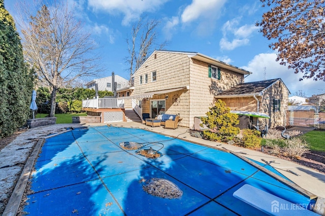
POLYGON ((220 39, 219 45, 221 50, 234 50, 237 47, 249 44, 249 37, 258 30, 255 25, 243 25, 239 28, 241 17, 226 21, 221 30, 223 37, 220 39), (233 37, 232 41, 228 38, 233 37))

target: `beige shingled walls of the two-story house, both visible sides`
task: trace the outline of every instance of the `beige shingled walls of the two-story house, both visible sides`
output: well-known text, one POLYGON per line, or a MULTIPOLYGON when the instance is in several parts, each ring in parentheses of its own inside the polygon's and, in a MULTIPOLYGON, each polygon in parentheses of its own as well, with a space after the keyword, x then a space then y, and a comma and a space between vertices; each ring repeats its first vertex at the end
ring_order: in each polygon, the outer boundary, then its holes
POLYGON ((209 107, 213 106, 214 95, 242 83, 243 74, 224 68, 221 79, 209 77, 209 64, 191 59, 186 54, 155 52, 142 65, 134 77, 132 95, 147 92, 175 89, 189 86, 189 90, 180 90, 163 95, 154 95, 141 102, 142 112, 150 113, 150 100, 165 100, 166 113, 180 114, 180 126, 193 127, 194 117, 205 116, 209 107), (156 81, 151 80, 151 72, 156 71, 156 81), (144 75, 148 74, 148 82, 144 83, 144 75), (142 76, 142 84, 140 84, 142 76), (166 98, 168 95, 168 99, 166 98))

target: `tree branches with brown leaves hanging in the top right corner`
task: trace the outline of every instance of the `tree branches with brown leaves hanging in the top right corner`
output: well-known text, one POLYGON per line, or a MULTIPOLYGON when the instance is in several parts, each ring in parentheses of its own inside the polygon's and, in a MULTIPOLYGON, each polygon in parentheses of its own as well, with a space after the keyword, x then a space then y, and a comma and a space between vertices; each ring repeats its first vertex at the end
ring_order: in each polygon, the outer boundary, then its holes
POLYGON ((325 81, 324 0, 260 0, 270 11, 263 15, 263 35, 271 39, 281 65, 303 73, 300 80, 325 81))

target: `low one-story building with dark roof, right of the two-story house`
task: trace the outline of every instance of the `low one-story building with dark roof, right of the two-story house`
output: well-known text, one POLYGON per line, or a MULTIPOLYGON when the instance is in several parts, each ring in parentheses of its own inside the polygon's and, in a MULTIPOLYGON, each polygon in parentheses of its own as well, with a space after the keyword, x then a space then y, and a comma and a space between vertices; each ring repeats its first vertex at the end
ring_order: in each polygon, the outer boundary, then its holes
POLYGON ((286 126, 289 90, 280 78, 236 85, 215 96, 226 103, 231 110, 261 112, 267 118, 252 118, 252 123, 264 129, 286 126))

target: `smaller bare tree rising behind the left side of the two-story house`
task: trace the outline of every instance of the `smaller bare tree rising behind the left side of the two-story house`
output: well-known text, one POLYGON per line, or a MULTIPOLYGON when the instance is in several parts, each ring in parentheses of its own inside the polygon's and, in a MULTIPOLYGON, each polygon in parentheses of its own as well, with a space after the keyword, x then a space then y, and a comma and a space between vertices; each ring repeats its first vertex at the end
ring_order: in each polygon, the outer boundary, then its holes
POLYGON ((156 19, 148 19, 147 16, 140 16, 138 23, 132 25, 132 35, 126 37, 129 56, 126 62, 129 64, 130 82, 133 73, 147 60, 148 54, 152 53, 155 47, 159 50, 167 46, 165 40, 161 44, 157 44, 158 32, 157 27, 160 21, 156 19))

